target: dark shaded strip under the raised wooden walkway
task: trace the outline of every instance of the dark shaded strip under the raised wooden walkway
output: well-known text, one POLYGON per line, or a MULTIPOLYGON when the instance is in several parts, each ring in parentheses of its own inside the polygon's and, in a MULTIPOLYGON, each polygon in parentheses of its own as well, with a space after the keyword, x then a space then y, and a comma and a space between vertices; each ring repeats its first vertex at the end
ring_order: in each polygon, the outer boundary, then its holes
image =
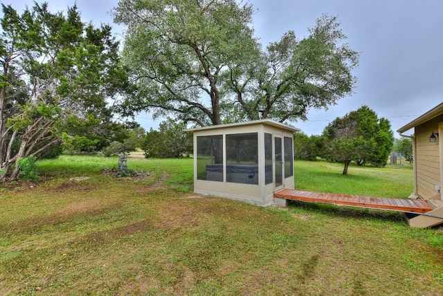
POLYGON ((302 208, 303 210, 318 212, 329 216, 343 216, 353 219, 376 219, 381 221, 406 223, 400 212, 366 209, 325 203, 305 203, 302 201, 289 201, 289 208, 302 208))

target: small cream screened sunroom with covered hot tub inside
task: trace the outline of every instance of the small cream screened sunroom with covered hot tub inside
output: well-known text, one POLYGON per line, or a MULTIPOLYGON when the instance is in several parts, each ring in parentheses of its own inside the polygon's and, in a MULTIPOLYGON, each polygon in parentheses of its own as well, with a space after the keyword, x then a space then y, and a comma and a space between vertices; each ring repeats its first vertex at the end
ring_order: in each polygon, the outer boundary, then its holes
POLYGON ((273 192, 293 188, 293 133, 273 120, 190 129, 194 132, 194 192, 273 204, 273 192))

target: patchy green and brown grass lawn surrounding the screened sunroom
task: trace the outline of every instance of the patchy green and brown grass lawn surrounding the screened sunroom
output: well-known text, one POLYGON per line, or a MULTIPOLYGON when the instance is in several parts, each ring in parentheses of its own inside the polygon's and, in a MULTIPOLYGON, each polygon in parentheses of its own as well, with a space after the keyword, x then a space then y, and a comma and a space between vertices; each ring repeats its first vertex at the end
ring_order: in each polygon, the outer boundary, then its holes
MULTIPOLYGON (((62 156, 37 163, 37 183, 0 184, 0 295, 442 293, 442 230, 410 228, 395 212, 200 196, 191 159, 129 157, 147 179, 100 174, 117 162, 62 156)), ((295 167, 298 189, 412 192, 405 167, 295 167)))

